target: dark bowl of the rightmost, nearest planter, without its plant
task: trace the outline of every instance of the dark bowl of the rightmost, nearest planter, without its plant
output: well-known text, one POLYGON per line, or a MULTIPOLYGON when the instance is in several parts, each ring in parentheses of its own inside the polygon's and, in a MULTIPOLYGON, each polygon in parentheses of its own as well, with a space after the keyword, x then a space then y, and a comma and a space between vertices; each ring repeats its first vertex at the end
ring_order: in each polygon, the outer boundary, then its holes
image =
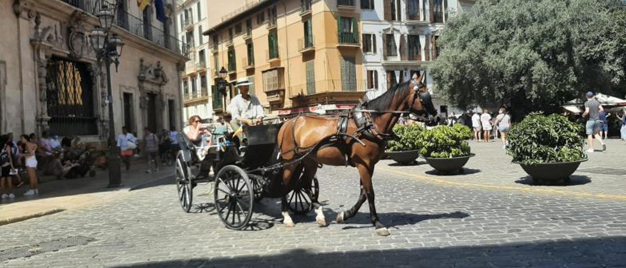
POLYGON ((533 183, 540 184, 557 184, 567 185, 570 182, 570 175, 574 173, 580 163, 588 159, 581 159, 573 162, 560 163, 536 163, 536 164, 520 164, 521 168, 533 178, 533 183))

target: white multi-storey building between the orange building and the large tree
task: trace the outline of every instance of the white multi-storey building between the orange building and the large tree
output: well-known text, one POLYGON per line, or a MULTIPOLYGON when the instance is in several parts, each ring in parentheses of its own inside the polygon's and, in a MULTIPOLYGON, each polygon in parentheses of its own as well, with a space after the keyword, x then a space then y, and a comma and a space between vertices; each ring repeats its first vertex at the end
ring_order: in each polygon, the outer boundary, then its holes
POLYGON ((437 58, 437 39, 454 13, 469 0, 361 0, 362 49, 367 97, 382 95, 415 72, 426 73, 428 90, 440 113, 448 106, 436 92, 426 67, 437 58), (434 91, 433 91, 434 90, 434 91))

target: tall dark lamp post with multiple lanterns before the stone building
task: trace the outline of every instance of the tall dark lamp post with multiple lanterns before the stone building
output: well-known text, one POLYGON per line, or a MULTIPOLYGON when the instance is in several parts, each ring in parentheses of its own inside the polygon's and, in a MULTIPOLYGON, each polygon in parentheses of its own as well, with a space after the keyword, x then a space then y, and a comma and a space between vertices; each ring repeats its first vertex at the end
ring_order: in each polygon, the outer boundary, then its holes
POLYGON ((111 63, 115 63, 115 71, 120 65, 121 49, 124 42, 117 34, 110 32, 115 13, 108 6, 103 5, 96 13, 100 20, 100 28, 91 30, 91 45, 96 50, 98 63, 104 61, 106 66, 106 90, 105 102, 109 108, 109 185, 107 188, 121 186, 120 158, 115 139, 115 120, 113 118, 113 95, 111 94, 111 63))

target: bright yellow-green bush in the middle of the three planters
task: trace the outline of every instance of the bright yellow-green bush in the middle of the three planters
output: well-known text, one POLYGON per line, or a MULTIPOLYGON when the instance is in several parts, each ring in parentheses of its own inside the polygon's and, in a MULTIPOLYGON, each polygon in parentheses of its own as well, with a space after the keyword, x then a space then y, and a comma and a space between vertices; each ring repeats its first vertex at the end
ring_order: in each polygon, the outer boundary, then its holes
POLYGON ((466 140, 471 137, 472 132, 467 126, 455 124, 423 131, 416 143, 423 157, 466 157, 471 153, 466 140))

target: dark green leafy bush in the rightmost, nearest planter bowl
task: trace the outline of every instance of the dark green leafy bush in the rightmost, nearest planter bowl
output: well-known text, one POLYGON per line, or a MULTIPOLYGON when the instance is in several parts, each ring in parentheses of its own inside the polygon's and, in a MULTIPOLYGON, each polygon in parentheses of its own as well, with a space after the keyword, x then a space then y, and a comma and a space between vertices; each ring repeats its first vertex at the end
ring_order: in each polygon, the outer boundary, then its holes
POLYGON ((511 128, 506 152, 523 164, 573 162, 585 159, 583 126, 562 115, 531 113, 511 128))

